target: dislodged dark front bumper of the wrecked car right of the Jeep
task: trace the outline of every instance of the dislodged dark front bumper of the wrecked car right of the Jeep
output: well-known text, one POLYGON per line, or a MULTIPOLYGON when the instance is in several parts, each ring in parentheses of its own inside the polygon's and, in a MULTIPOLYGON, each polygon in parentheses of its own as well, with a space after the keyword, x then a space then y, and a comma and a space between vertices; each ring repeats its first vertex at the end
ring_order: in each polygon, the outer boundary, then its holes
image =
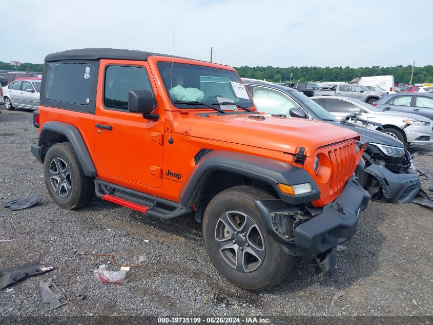
POLYGON ((394 174, 377 164, 370 165, 364 170, 379 182, 383 195, 391 203, 411 202, 421 188, 420 178, 415 174, 394 174))

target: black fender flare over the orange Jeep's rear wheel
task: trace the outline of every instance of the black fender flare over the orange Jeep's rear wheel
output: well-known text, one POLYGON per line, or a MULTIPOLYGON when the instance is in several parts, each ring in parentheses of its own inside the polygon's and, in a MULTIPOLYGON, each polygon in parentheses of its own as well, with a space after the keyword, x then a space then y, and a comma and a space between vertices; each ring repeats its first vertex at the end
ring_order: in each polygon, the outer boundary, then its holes
POLYGON ((81 168, 83 168, 84 175, 93 177, 97 175, 95 165, 93 164, 92 157, 89 154, 83 136, 81 136, 80 131, 75 126, 65 122, 45 122, 39 133, 39 147, 50 143, 49 135, 51 132, 59 133, 68 139, 75 151, 75 155, 77 156, 81 168))

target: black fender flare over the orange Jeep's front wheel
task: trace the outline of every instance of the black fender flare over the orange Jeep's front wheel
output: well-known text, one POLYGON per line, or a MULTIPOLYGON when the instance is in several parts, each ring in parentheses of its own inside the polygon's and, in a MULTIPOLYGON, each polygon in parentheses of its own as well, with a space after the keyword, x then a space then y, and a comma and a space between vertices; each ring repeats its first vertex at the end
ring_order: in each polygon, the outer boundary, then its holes
POLYGON ((206 154, 183 184, 179 193, 180 202, 187 205, 200 186, 201 180, 212 170, 226 170, 263 181, 276 190, 280 199, 288 204, 303 204, 320 198, 320 189, 310 174, 288 162, 278 161, 233 151, 214 150, 206 154), (286 195, 277 188, 278 183, 297 185, 310 183, 313 191, 297 196, 286 195))

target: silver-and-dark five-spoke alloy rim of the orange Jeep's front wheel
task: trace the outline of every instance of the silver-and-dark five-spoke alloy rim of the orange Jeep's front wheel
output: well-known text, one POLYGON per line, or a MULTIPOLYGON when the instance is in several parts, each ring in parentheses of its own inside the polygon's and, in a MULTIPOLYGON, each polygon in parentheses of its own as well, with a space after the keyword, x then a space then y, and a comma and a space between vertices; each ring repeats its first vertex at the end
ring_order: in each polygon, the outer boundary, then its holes
POLYGON ((263 262, 265 244, 257 223, 240 211, 223 213, 215 226, 215 240, 226 263, 239 272, 256 270, 263 262))

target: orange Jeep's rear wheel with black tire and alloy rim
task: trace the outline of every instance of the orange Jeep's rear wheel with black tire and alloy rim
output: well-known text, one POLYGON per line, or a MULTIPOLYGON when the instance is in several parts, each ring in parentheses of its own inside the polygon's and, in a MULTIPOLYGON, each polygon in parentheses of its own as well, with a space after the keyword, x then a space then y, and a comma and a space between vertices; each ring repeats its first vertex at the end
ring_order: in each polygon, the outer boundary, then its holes
POLYGON ((95 191, 93 178, 84 176, 68 142, 56 143, 48 149, 44 178, 51 198, 64 208, 75 209, 92 200, 95 191))

